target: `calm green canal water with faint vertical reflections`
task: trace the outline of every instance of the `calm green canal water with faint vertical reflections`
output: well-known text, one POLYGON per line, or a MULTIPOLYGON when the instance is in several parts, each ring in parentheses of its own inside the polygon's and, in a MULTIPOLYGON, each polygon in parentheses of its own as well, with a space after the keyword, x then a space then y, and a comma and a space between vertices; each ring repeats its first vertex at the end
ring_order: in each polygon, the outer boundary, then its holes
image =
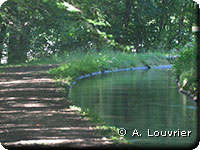
POLYGON ((125 128, 125 138, 139 147, 191 146, 198 140, 197 105, 178 92, 175 77, 167 69, 117 72, 79 80, 70 98, 75 105, 94 111, 107 125, 125 128), (154 131, 178 131, 179 136, 152 136, 154 131))

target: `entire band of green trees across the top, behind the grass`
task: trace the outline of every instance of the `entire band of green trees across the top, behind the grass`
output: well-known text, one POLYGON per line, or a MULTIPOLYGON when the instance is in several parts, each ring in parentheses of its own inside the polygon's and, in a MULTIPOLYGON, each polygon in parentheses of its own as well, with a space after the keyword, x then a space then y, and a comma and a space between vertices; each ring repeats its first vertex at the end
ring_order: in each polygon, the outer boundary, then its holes
POLYGON ((76 49, 170 50, 193 38, 193 0, 8 0, 0 59, 23 63, 76 49))

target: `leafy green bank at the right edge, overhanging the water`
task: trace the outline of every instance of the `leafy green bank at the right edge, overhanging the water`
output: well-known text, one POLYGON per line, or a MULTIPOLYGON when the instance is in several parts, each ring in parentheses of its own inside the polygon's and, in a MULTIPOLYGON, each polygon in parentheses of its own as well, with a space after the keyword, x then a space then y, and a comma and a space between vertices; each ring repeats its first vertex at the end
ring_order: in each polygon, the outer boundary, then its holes
POLYGON ((185 46, 173 64, 173 72, 177 76, 178 85, 182 92, 197 99, 197 44, 185 46))

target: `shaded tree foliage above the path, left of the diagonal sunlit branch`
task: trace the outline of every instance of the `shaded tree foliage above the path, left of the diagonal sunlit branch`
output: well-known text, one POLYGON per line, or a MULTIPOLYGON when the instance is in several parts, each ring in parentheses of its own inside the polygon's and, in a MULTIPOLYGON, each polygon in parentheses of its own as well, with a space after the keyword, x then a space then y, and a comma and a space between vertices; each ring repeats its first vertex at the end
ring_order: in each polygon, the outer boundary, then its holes
POLYGON ((0 12, 1 31, 5 32, 1 52, 8 53, 8 63, 27 62, 91 46, 91 41, 98 36, 80 12, 73 9, 60 0, 5 2, 0 12))

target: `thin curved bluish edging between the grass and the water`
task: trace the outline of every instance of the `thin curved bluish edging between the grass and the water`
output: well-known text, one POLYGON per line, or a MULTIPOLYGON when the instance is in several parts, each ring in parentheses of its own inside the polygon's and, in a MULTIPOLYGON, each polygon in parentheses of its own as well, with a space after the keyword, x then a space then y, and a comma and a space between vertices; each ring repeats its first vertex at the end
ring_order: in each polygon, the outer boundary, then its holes
MULTIPOLYGON (((170 64, 170 65, 162 65, 162 66, 151 67, 151 69, 171 69, 172 66, 173 66, 172 64, 170 64)), ((130 70, 147 70, 147 69, 149 69, 149 68, 145 67, 145 66, 142 66, 142 67, 131 67, 131 68, 123 68, 123 69, 115 69, 115 70, 106 70, 106 71, 93 72, 91 74, 87 74, 87 75, 80 76, 80 77, 76 78, 76 80, 71 83, 69 89, 71 89, 72 86, 75 85, 78 80, 81 80, 81 79, 84 79, 84 78, 88 78, 88 77, 91 77, 91 76, 96 76, 96 75, 106 74, 106 73, 111 73, 111 72, 130 71, 130 70)))

